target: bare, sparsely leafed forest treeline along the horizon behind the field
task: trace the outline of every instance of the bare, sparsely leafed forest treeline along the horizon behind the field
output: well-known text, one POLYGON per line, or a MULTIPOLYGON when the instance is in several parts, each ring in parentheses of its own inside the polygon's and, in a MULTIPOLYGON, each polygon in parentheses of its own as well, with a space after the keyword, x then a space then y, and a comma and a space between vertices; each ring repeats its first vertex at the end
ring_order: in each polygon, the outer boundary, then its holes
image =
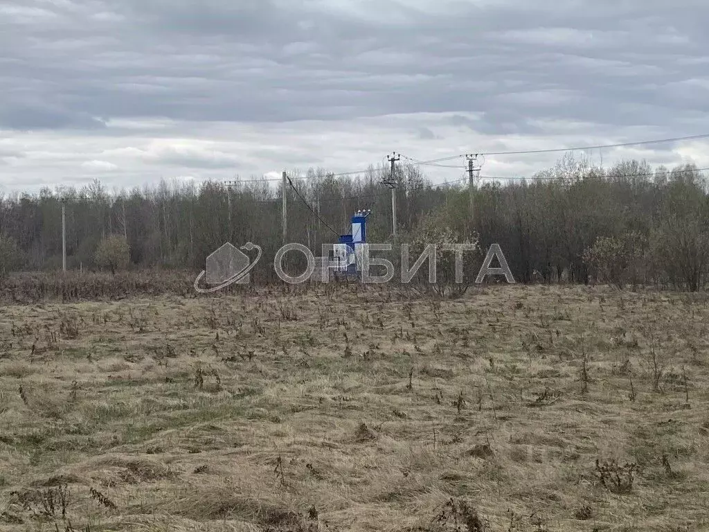
MULTIPOLYGON (((696 290, 709 280, 707 176, 693 165, 652 168, 630 160, 603 169, 566 155, 530 179, 484 176, 471 217, 464 173, 434 186, 420 167, 402 161, 394 176, 399 240, 412 241, 435 221, 456 240, 479 238, 485 249, 500 244, 520 282, 594 279, 696 290)), ((384 177, 388 169, 372 167, 359 177, 310 170, 308 179, 294 179, 320 219, 289 187, 288 240, 320 255, 322 243, 349 231, 354 211, 372 209, 368 240, 391 242, 384 177)), ((160 182, 120 194, 93 182, 0 199, 0 272, 61 270, 62 197, 71 270, 98 269, 96 250, 111 235, 127 240, 133 270, 199 271, 227 241, 257 243, 269 257, 281 245, 279 182, 160 182)))

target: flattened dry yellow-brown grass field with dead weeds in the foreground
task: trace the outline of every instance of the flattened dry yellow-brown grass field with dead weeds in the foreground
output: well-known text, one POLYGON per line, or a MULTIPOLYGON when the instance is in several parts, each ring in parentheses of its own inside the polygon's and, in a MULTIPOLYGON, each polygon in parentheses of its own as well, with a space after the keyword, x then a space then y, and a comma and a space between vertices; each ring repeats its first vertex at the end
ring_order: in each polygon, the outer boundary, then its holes
POLYGON ((709 297, 0 308, 0 531, 709 530, 709 297))

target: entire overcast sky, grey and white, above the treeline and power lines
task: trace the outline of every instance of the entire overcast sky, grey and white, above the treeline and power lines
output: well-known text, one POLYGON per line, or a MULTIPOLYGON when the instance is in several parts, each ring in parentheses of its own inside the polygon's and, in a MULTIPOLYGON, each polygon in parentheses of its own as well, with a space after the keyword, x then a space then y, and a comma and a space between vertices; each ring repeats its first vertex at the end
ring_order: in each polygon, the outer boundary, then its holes
POLYGON ((705 0, 2 0, 0 192, 709 133, 708 20, 705 0))

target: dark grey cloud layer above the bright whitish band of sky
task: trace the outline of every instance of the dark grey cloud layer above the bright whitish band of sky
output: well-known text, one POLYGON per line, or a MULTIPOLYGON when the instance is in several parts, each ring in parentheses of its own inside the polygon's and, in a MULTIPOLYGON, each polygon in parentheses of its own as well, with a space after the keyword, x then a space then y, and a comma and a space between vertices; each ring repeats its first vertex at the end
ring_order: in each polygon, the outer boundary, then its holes
MULTIPOLYGON (((441 123, 482 138, 553 137, 563 128, 550 124, 563 122, 584 124, 589 139, 704 133, 708 19, 703 1, 10 0, 0 5, 0 138, 23 152, 31 139, 16 135, 28 131, 121 148, 150 129, 121 121, 169 121, 181 138, 216 121, 308 121, 307 137, 335 121, 423 113, 411 138, 450 145, 463 139, 441 123)), ((386 120, 367 133, 377 127, 386 120)), ((147 160, 160 153, 201 165, 164 146, 147 160)), ((205 170, 239 170, 244 158, 201 157, 205 170)))

